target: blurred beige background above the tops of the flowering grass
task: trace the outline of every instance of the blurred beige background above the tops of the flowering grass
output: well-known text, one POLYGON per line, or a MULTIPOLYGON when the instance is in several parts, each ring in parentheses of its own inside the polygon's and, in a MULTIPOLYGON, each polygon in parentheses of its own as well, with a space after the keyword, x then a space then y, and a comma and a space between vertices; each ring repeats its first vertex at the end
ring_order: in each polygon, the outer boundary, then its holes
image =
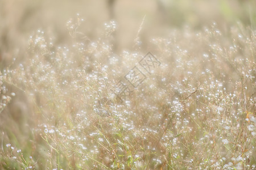
POLYGON ((97 39, 104 23, 114 20, 114 52, 131 49, 140 30, 142 48, 152 37, 166 35, 170 29, 189 25, 201 29, 216 22, 225 32, 240 22, 255 28, 256 1, 249 0, 94 0, 94 1, 0 1, 0 61, 9 65, 11 58, 22 59, 28 37, 38 29, 54 37, 55 44, 67 44, 67 21, 77 14, 84 22, 80 32, 97 39), (142 26, 142 27, 141 27, 142 26))

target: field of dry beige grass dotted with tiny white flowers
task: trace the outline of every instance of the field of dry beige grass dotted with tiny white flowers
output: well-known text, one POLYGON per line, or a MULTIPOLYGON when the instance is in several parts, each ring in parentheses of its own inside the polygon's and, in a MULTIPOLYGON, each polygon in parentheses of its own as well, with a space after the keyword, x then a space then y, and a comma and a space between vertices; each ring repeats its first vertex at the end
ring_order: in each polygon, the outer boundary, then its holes
POLYGON ((142 22, 116 52, 118 23, 90 39, 82 22, 62 45, 38 29, 1 67, 1 169, 255 169, 255 27, 185 26, 144 48, 142 22), (146 79, 121 102, 113 88, 134 66, 146 79))

